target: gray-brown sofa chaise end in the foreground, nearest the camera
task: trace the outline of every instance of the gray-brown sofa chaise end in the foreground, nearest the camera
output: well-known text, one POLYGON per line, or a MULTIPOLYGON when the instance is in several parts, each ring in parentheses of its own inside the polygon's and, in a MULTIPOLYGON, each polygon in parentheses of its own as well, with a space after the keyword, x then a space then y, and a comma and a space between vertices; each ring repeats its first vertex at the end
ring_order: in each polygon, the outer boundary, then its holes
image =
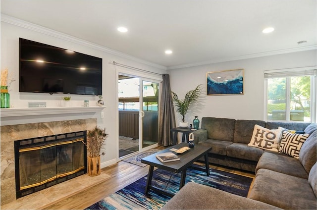
POLYGON ((213 187, 188 182, 162 210, 278 209, 213 187))

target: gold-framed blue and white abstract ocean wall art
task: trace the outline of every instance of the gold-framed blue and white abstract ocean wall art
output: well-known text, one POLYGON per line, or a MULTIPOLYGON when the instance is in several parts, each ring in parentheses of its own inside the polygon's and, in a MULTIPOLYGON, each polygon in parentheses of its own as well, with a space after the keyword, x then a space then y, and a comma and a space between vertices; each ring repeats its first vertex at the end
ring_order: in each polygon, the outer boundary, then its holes
POLYGON ((207 95, 243 95, 244 69, 207 72, 207 95))

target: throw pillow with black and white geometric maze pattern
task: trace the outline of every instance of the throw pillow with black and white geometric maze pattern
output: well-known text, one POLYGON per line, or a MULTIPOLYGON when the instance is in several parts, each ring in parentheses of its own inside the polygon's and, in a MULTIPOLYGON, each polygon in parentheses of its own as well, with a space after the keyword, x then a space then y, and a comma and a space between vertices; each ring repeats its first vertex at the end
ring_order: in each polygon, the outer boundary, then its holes
POLYGON ((278 152, 298 159, 299 151, 301 150, 303 143, 308 137, 308 134, 289 133, 283 131, 282 140, 279 144, 278 152))

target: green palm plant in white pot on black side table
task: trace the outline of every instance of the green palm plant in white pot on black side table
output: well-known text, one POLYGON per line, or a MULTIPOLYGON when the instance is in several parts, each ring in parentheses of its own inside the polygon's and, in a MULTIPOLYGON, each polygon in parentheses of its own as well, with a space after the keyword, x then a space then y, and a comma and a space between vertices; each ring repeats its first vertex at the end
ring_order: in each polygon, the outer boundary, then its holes
POLYGON ((176 112, 182 116, 182 121, 179 123, 179 127, 188 127, 188 122, 185 122, 185 115, 187 114, 190 107, 198 101, 201 93, 201 85, 198 85, 194 90, 188 91, 184 99, 179 99, 177 94, 172 91, 172 100, 176 107, 176 112))

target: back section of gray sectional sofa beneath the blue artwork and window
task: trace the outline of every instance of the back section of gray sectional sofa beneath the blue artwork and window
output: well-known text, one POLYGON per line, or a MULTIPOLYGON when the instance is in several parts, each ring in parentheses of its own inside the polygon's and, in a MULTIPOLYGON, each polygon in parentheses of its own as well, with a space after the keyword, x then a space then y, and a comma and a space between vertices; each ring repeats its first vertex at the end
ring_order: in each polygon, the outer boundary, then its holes
POLYGON ((263 149, 250 147, 253 129, 260 125, 268 129, 283 127, 304 131, 310 123, 265 122, 203 117, 201 129, 194 131, 195 144, 210 145, 209 162, 255 172, 263 149))

